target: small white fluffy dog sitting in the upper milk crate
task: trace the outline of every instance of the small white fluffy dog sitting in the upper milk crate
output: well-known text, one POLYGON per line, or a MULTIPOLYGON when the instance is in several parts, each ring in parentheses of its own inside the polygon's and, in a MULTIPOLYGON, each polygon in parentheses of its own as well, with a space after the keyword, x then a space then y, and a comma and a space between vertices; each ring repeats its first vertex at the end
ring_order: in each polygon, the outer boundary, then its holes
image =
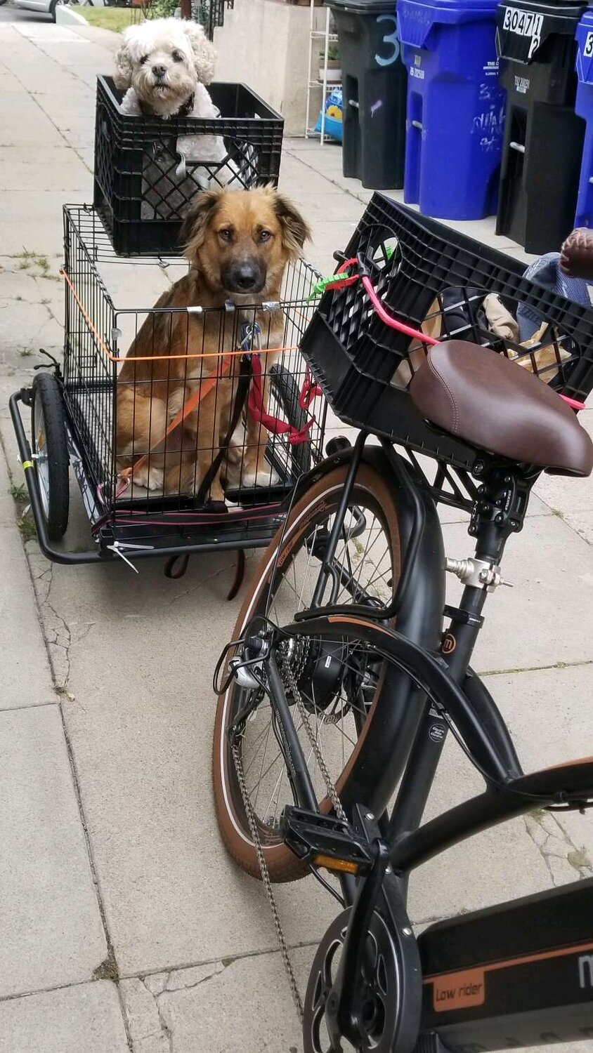
MULTIPOLYGON (((163 120, 219 118, 220 112, 205 87, 214 77, 215 60, 214 45, 196 22, 159 18, 129 26, 115 56, 114 82, 116 87, 126 90, 121 103, 123 113, 163 120)), ((228 159, 221 136, 180 136, 176 153, 178 183, 187 175, 194 193, 211 184, 230 183, 238 175, 236 165, 228 159), (196 162, 200 166, 186 173, 186 163, 196 162)), ((150 173, 145 172, 145 176, 150 177, 150 173)), ((240 180, 237 187, 241 187, 240 180)), ((172 204, 170 201, 170 207, 172 204)), ((161 211, 159 215, 163 218, 161 211)))

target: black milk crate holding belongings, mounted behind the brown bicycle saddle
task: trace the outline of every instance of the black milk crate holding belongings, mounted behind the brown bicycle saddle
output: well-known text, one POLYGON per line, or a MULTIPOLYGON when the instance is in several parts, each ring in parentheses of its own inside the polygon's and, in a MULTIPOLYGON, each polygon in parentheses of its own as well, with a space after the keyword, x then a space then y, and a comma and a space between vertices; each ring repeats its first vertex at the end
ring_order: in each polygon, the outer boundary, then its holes
MULTIPOLYGON (((522 277, 526 264, 397 204, 370 201, 343 257, 361 255, 375 291, 398 321, 438 339, 469 340, 517 358, 560 394, 585 401, 593 388, 593 309, 522 277), (496 293, 549 323, 526 347, 485 324, 481 304, 496 293)), ((471 471, 478 452, 432 429, 408 393, 426 345, 387 326, 361 281, 324 293, 301 341, 325 397, 343 421, 471 471)), ((505 406, 500 408, 505 412, 505 406)))

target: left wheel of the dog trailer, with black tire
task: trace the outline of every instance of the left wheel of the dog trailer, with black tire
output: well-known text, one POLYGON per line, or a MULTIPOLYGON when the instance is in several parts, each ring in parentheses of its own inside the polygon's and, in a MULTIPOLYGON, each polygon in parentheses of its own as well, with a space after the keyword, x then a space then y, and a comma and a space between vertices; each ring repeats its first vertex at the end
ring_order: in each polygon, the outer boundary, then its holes
POLYGON ((62 396, 51 373, 38 373, 33 381, 31 435, 47 536, 59 541, 68 522, 68 453, 62 396))

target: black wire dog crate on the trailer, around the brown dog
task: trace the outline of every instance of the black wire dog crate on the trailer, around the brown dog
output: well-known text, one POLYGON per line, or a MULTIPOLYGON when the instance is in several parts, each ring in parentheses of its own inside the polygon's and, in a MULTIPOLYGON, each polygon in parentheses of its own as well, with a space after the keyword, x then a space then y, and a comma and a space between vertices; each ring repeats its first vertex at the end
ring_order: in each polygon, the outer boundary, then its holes
MULTIPOLYGON (((204 458, 212 464, 222 438, 215 431, 216 419, 211 421, 207 414, 224 395, 230 406, 233 404, 238 391, 240 338, 245 323, 254 321, 256 309, 138 306, 138 266, 144 273, 142 284, 152 303, 166 285, 166 279, 175 281, 186 273, 187 262, 179 257, 170 260, 143 257, 135 267, 130 267, 114 254, 107 232, 91 206, 64 207, 64 250, 62 394, 74 451, 71 462, 101 551, 114 540, 132 549, 138 543, 154 554, 174 545, 189 551, 213 547, 218 541, 235 549, 266 544, 282 521, 283 502, 299 476, 322 458, 327 403, 310 381, 299 352, 302 333, 314 311, 309 297, 319 278, 317 272, 304 260, 289 264, 281 300, 258 310, 257 315, 262 346, 268 343, 272 349, 269 356, 259 357, 263 409, 280 425, 291 425, 291 433, 285 430, 282 433, 281 429, 273 432, 268 422, 250 430, 252 390, 249 389, 249 394, 243 392, 242 414, 229 448, 233 456, 230 452, 220 464, 225 506, 213 506, 212 489, 201 497, 194 496, 200 481, 197 469, 189 486, 186 479, 181 485, 173 484, 171 473, 165 472, 166 478, 163 477, 161 462, 165 466, 166 458, 183 453, 183 459, 189 457, 192 464, 197 465, 200 457, 202 468, 204 458), (117 305, 110 290, 117 293, 117 305), (195 318, 200 320, 197 327, 192 322, 195 318), (131 359, 133 365, 124 378, 121 371, 126 352, 141 330, 143 342, 139 356, 131 359), (182 353, 176 347, 175 355, 160 355, 163 333, 166 338, 174 331, 183 336, 182 353), (274 346, 270 342, 271 333, 274 346), (234 361, 231 366, 224 365, 230 355, 234 355, 234 361), (152 366, 144 370, 144 364, 151 361, 163 363, 164 381, 155 379, 152 366), (176 449, 175 435, 161 438, 161 428, 155 419, 150 443, 143 444, 136 436, 134 424, 132 444, 122 444, 118 398, 149 397, 154 413, 158 399, 166 399, 169 409, 175 384, 180 408, 190 390, 212 377, 217 383, 193 410, 193 444, 182 438, 181 450, 176 449), (260 460, 256 479, 248 476, 249 460, 255 456, 260 460), (142 471, 134 474, 142 461, 142 471)), ((164 416, 164 403, 162 412, 164 416)), ((173 471, 175 478, 176 472, 177 464, 173 471)))

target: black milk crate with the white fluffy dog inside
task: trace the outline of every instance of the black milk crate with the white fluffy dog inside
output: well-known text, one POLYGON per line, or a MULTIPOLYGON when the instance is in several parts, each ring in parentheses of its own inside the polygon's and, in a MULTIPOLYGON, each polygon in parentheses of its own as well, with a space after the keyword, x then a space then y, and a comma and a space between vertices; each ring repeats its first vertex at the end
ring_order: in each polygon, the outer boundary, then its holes
POLYGON ((283 118, 244 84, 210 84, 209 92, 220 118, 162 120, 123 114, 124 93, 111 77, 97 78, 94 203, 118 255, 180 253, 181 221, 200 186, 231 175, 236 190, 277 184, 283 118), (209 160, 206 146, 204 160, 183 162, 177 140, 184 136, 221 138, 223 160, 209 160))

